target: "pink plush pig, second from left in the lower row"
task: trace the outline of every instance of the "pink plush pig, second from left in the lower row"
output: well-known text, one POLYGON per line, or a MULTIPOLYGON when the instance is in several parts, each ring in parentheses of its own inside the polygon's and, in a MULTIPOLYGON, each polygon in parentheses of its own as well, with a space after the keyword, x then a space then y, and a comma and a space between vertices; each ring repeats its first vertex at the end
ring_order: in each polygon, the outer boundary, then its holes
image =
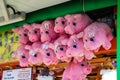
POLYGON ((29 50, 29 63, 31 65, 41 65, 43 62, 43 57, 39 49, 41 49, 40 42, 34 42, 32 45, 26 45, 26 49, 29 50))

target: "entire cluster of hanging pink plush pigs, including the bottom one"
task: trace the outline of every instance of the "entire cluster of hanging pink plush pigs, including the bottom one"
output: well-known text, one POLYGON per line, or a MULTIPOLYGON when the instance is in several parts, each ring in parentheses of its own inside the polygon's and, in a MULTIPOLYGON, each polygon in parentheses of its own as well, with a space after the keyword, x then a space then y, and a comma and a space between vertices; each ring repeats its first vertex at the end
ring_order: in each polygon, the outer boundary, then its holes
POLYGON ((68 14, 41 24, 24 24, 13 31, 19 34, 22 44, 13 53, 20 65, 68 62, 62 80, 85 80, 91 67, 84 59, 91 60, 101 46, 110 49, 113 39, 107 24, 93 22, 86 14, 68 14))

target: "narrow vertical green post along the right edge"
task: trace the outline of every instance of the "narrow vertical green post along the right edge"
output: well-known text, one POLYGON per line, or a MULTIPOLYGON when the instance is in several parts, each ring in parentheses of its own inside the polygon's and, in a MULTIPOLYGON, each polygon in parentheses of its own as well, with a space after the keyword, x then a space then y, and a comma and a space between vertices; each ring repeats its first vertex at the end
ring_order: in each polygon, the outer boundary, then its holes
MULTIPOLYGON (((120 0, 118 0, 118 13, 120 14, 120 0)), ((117 35, 120 34, 120 15, 117 15, 117 35)), ((120 36, 117 36, 117 80, 120 80, 120 36)))

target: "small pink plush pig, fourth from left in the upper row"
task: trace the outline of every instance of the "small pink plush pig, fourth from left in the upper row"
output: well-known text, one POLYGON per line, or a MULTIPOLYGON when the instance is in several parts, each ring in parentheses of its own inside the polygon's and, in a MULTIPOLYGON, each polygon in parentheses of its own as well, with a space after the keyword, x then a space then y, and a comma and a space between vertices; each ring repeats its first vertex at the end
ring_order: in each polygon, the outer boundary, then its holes
POLYGON ((59 34, 64 34, 64 28, 66 26, 66 20, 64 17, 58 17, 55 19, 54 31, 59 34))

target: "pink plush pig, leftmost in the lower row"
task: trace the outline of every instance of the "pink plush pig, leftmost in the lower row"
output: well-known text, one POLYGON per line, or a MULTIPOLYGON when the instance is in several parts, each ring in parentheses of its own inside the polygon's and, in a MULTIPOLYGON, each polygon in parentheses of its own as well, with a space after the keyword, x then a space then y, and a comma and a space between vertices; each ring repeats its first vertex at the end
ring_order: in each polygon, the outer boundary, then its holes
POLYGON ((12 54, 12 57, 18 58, 21 67, 26 67, 29 64, 29 51, 25 49, 25 46, 26 45, 19 46, 17 50, 12 54))

